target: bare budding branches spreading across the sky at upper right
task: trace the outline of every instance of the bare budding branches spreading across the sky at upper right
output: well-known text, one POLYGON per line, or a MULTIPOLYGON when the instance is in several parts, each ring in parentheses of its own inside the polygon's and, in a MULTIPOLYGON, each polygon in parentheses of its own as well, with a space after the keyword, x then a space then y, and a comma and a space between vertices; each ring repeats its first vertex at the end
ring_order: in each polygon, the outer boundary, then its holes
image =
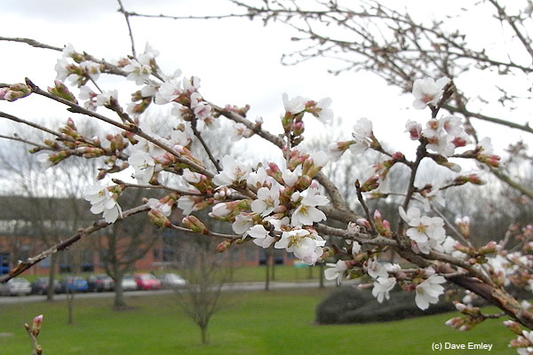
MULTIPOLYGON (((281 22, 293 29, 291 39, 299 44, 296 51, 282 56, 283 64, 295 65, 317 58, 337 59, 342 65, 330 69, 333 75, 368 71, 404 92, 412 91, 417 78, 446 76, 452 79, 456 90, 442 109, 461 116, 474 140, 478 139, 476 120, 533 133, 528 122, 508 117, 510 111, 529 106, 532 99, 529 74, 533 72, 530 35, 533 6, 529 0, 475 2, 458 10, 451 9, 452 12, 442 6, 432 13, 422 14, 415 13, 420 9, 392 1, 389 5, 377 0, 230 1, 245 12, 225 16, 157 17, 174 20, 246 17, 262 20, 265 25, 281 22), (472 39, 475 36, 467 26, 473 20, 483 21, 483 28, 501 28, 497 36, 491 37, 494 43, 489 48, 487 43, 472 39), (492 81, 493 89, 473 91, 464 85, 469 81, 465 78, 471 77, 492 81), (489 102, 498 103, 503 110, 493 109, 487 113, 489 102)), ((521 182, 522 174, 512 175, 505 169, 490 170, 502 182, 533 200, 533 186, 521 182)))

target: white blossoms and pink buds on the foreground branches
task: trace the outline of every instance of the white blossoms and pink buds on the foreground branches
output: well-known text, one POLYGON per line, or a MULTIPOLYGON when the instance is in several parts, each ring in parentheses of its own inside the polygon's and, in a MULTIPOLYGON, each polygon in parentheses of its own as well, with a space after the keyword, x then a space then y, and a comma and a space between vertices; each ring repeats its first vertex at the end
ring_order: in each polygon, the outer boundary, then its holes
MULTIPOLYGON (((415 183, 418 165, 423 159, 456 173, 461 170, 451 161, 456 158, 473 159, 493 169, 499 166, 500 158, 494 154, 489 138, 476 141, 468 148, 473 138, 462 120, 454 115, 438 116, 452 87, 448 78, 418 79, 413 83, 413 107, 428 107, 431 111, 431 118, 424 124, 410 120, 405 125, 410 139, 418 141, 415 160, 410 161, 402 152, 387 151, 367 118, 355 122, 351 139, 328 146, 328 153, 309 153, 298 146, 304 139, 304 117, 311 115, 323 123, 330 122, 333 112, 329 98, 315 101, 282 94, 283 133, 274 136, 263 129, 262 119, 248 121, 249 106, 221 108, 204 99, 198 77, 181 77, 179 69, 171 75, 163 73, 157 64, 158 55, 159 52, 147 44, 138 57, 109 63, 80 53, 69 44, 55 66, 56 81, 48 88, 52 97, 60 98, 61 103, 68 102, 75 112, 101 117, 94 111, 107 109, 120 119, 115 126, 123 132, 107 134, 105 139, 84 137, 69 119, 60 129, 60 139, 46 139, 44 146, 35 149, 40 152, 38 159, 45 167, 77 155, 102 158, 105 167, 99 170, 100 180, 109 175, 115 177, 116 172, 131 172, 136 184, 113 179, 114 185, 90 185, 85 190, 91 212, 101 213, 107 223, 127 216, 118 202, 124 190, 157 187, 167 190, 166 194, 159 199, 143 201, 143 208, 155 225, 222 237, 225 240, 219 244, 219 251, 250 241, 259 248, 284 249, 309 265, 333 259, 335 263, 329 263, 330 267, 325 270, 327 280, 361 279, 361 287, 371 287, 379 303, 389 300, 391 291, 398 285, 414 292, 418 308, 426 310, 430 304, 439 302, 447 279, 462 276, 485 282, 491 288, 501 288, 498 292, 510 283, 533 289, 533 275, 528 272, 533 269, 530 256, 533 227, 511 231, 522 244, 521 250, 508 252, 502 243, 495 241, 475 247, 470 241, 473 231, 468 217, 457 217, 455 227, 442 213, 432 217, 431 210, 438 212, 437 206, 445 204, 442 191, 466 183, 481 185, 483 181, 477 173, 457 174, 440 185, 415 183), (100 90, 96 82, 103 73, 123 75, 139 86, 126 109, 122 108, 117 91, 100 90), (77 98, 65 81, 79 88, 77 98), (83 106, 78 106, 78 99, 84 101, 83 106), (170 130, 155 132, 145 124, 143 113, 152 104, 170 106, 175 123, 170 130), (219 128, 221 116, 231 121, 228 134, 231 141, 258 134, 278 146, 282 156, 276 162, 255 165, 235 159, 231 154, 213 157, 202 133, 206 128, 219 128), (195 143, 203 146, 211 162, 198 158, 195 143), (465 150, 457 151, 458 148, 465 150), (43 150, 52 153, 43 153, 43 150), (380 154, 379 161, 362 173, 362 182, 354 181, 364 217, 355 215, 345 201, 339 201, 342 198, 338 197, 338 191, 331 188, 322 172, 328 162, 339 160, 348 150, 355 155, 368 150, 380 154), (378 190, 389 171, 401 164, 412 173, 407 192, 378 190), (209 166, 216 170, 210 170, 209 166), (171 176, 168 185, 165 176, 171 176), (389 196, 402 198, 395 229, 378 209, 370 212, 365 202, 365 198, 389 196), (423 209, 415 206, 417 201, 423 209), (179 209, 179 222, 172 215, 175 209, 179 209), (208 209, 210 217, 231 224, 235 234, 212 233, 193 215, 202 209, 208 209), (343 222, 345 228, 326 225, 324 222, 329 217, 343 222), (455 238, 449 233, 455 233, 455 238), (326 247, 330 236, 342 241, 326 247), (400 264, 382 261, 380 256, 391 249, 404 257, 400 264), (365 280, 370 282, 365 285, 365 280)), ((33 90, 29 83, 6 85, 0 89, 0 99, 14 101, 33 90)), ((473 293, 465 296, 462 303, 457 302, 457 311, 464 316, 450 319, 451 327, 466 330, 481 322, 484 315, 470 304, 472 298, 473 293)), ((523 308, 529 310, 530 306, 523 308)), ((520 319, 520 315, 516 318, 520 319)), ((515 324, 506 326, 519 335, 512 346, 519 353, 531 352, 531 334, 517 330, 515 324)))

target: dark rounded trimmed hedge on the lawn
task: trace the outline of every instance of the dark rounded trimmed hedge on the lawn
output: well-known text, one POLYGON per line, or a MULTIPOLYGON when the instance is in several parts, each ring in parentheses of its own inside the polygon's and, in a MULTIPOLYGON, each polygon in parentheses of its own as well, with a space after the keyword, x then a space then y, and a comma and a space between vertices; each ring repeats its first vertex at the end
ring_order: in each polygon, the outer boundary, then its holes
POLYGON ((316 306, 319 324, 368 323, 400 320, 455 311, 449 302, 431 304, 426 311, 418 309, 414 292, 391 291, 391 298, 379 304, 370 289, 341 287, 333 290, 316 306))

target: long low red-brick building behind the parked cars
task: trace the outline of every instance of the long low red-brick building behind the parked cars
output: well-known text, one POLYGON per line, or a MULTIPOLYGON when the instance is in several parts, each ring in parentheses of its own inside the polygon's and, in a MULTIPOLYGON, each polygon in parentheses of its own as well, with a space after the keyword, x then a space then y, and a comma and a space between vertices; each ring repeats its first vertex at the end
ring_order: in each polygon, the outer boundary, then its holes
MULTIPOLYGON (((14 267, 18 260, 35 256, 53 243, 76 233, 80 226, 88 226, 98 217, 88 210, 86 201, 67 199, 28 199, 2 197, 0 208, 0 274, 14 267), (75 214, 72 212, 76 211, 75 214), (74 216, 74 217, 73 217, 74 216)), ((176 220, 181 219, 176 212, 176 220)), ((170 229, 157 229, 139 215, 133 225, 130 220, 117 229, 107 227, 99 233, 85 236, 73 247, 58 253, 58 272, 105 272, 110 250, 120 257, 134 257, 133 271, 155 271, 194 267, 194 238, 187 233, 170 229), (139 230, 141 231, 139 233, 139 230), (121 254, 122 253, 122 254, 121 254), (137 257, 138 256, 138 257, 137 257)), ((229 228, 229 225, 218 225, 229 228)), ((231 229, 228 231, 231 233, 231 229)), ((211 248, 211 247, 210 247, 211 248)), ((213 247, 214 249, 214 247, 213 247)), ((284 250, 274 250, 276 264, 292 264, 294 258, 284 250)), ((265 264, 266 251, 252 243, 229 248, 218 256, 227 266, 251 266, 265 264)), ((52 261, 45 259, 26 272, 47 274, 52 261)))

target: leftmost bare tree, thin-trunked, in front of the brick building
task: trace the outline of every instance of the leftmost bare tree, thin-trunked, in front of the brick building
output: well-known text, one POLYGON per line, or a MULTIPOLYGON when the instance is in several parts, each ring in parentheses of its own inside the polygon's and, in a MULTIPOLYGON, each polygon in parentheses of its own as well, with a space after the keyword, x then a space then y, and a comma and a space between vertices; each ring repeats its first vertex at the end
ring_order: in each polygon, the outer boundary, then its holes
MULTIPOLYGON (((5 209, 11 211, 14 220, 23 224, 29 238, 36 238, 46 248, 74 231, 86 220, 94 217, 87 214, 83 194, 87 179, 94 176, 95 165, 85 160, 73 160, 60 165, 58 169, 44 170, 36 156, 28 151, 6 149, 0 155, 4 178, 11 181, 11 197, 4 198, 5 209)), ((23 235, 23 234, 20 234, 23 235)), ((12 238, 19 243, 20 237, 12 238)), ((18 260, 12 260, 16 263, 18 260)), ((52 301, 58 256, 52 255, 50 262, 47 299, 52 301)))

